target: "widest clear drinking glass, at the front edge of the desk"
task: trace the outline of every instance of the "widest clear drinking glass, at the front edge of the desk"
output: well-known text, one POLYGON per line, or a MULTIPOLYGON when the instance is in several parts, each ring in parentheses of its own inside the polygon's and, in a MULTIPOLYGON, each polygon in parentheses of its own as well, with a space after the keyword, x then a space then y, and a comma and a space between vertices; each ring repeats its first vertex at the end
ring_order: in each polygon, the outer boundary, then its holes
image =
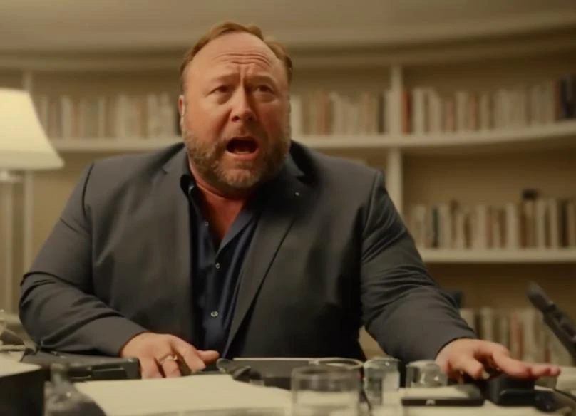
POLYGON ((292 370, 292 416, 358 416, 360 378, 350 368, 312 364, 292 370))

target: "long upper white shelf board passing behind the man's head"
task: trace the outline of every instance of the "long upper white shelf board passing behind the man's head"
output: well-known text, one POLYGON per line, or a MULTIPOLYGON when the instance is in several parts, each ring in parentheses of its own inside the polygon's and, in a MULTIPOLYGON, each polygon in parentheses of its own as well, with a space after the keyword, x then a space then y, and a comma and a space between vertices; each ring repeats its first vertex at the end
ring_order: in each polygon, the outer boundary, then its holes
MULTIPOLYGON (((562 139, 576 143, 576 120, 528 128, 510 128, 478 132, 441 133, 434 135, 326 135, 307 136, 298 142, 319 150, 329 149, 392 149, 447 150, 449 148, 479 148, 538 143, 553 145, 562 139)), ((55 139, 53 144, 59 152, 132 152, 155 150, 179 142, 180 137, 166 139, 113 139, 74 138, 55 139)))

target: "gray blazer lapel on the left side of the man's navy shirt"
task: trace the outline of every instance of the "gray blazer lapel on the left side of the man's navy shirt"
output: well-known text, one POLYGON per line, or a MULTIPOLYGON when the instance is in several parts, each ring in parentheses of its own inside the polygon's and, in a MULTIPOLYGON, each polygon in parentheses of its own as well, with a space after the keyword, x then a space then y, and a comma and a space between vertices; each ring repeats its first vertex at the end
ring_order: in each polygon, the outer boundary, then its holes
POLYGON ((166 314, 167 328, 176 328, 178 336, 196 341, 195 315, 192 303, 192 251, 190 247, 190 206, 180 187, 187 163, 182 149, 163 166, 155 184, 155 212, 158 251, 163 262, 164 287, 172 294, 173 308, 166 314))

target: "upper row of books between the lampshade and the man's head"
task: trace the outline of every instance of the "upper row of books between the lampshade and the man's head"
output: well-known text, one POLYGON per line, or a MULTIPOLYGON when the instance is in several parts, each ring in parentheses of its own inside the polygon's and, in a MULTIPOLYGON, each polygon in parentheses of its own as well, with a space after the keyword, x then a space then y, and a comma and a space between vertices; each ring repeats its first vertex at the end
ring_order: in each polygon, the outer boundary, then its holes
POLYGON ((178 108, 169 93, 145 95, 33 95, 48 137, 153 138, 179 134, 178 108))

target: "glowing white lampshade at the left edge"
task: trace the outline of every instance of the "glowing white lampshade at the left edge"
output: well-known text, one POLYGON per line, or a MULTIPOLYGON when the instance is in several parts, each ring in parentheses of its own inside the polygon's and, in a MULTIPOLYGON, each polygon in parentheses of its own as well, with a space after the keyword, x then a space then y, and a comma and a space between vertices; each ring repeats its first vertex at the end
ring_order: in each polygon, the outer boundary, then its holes
POLYGON ((29 93, 0 88, 0 170, 47 170, 63 165, 29 93))

